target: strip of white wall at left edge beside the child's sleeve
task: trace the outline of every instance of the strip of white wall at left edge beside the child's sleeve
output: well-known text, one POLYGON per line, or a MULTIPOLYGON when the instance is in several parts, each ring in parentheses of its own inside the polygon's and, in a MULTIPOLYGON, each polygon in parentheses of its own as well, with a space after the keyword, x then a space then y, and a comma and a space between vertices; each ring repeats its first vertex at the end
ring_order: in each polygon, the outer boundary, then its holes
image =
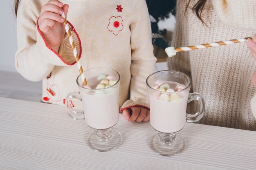
POLYGON ((17 38, 13 1, 1 0, 0 5, 0 71, 17 72, 14 65, 17 38))

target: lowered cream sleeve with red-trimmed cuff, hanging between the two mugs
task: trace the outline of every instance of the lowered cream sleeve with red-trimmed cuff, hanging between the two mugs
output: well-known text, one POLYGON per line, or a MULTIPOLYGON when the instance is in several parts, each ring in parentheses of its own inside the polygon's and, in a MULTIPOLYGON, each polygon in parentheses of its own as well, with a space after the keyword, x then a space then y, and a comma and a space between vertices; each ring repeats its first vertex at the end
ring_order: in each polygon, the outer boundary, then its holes
POLYGON ((135 106, 149 109, 146 78, 154 72, 156 58, 153 54, 151 26, 145 0, 141 0, 139 11, 137 21, 130 25, 132 50, 130 100, 123 104, 120 113, 135 106))

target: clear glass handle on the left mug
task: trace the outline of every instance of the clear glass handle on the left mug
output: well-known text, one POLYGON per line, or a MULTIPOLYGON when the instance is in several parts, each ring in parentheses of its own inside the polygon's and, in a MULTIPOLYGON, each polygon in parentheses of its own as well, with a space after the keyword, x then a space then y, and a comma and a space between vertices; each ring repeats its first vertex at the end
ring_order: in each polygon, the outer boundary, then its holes
POLYGON ((75 120, 85 119, 85 115, 83 112, 76 112, 72 109, 71 99, 79 99, 80 101, 82 101, 80 92, 76 91, 76 92, 71 92, 67 94, 67 97, 65 100, 65 107, 68 115, 70 115, 70 117, 75 120))

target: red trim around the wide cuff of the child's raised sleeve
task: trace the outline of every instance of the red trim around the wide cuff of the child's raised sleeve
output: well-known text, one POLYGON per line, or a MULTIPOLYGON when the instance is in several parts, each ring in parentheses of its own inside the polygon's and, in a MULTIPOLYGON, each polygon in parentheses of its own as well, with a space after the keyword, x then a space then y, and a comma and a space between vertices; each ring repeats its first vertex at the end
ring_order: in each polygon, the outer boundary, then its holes
MULTIPOLYGON (((39 17, 38 17, 38 19, 39 19, 39 17)), ((54 49, 52 49, 51 47, 48 46, 48 44, 47 44, 45 38, 43 37, 43 34, 41 33, 41 31, 40 31, 40 29, 39 29, 38 19, 36 20, 36 28, 37 28, 37 31, 38 31, 38 33, 40 34, 41 38, 43 38, 43 41, 45 42, 45 46, 46 46, 49 50, 51 50, 55 55, 57 55, 57 56, 61 59, 61 61, 62 61, 64 64, 67 64, 67 65, 69 65, 69 66, 72 66, 72 65, 76 64, 76 62, 73 62, 72 64, 69 64, 69 63, 65 62, 65 60, 63 60, 63 58, 62 58, 54 49)), ((80 59, 80 58, 81 58, 81 55, 82 55, 82 43, 81 43, 81 40, 80 40, 79 35, 78 35, 78 33, 76 32, 76 29, 74 28, 74 26, 73 26, 69 21, 67 21, 67 23, 72 27, 72 31, 74 31, 74 33, 76 34, 77 39, 78 39, 78 41, 79 41, 79 46, 80 46, 80 50, 79 50, 79 52, 80 52, 80 53, 79 53, 79 59, 80 59)))

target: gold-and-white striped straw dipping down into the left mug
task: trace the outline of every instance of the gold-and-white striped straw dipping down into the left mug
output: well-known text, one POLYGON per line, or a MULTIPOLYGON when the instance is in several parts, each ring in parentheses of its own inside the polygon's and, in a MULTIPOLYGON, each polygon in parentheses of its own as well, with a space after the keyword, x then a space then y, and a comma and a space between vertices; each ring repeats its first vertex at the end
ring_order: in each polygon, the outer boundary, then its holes
POLYGON ((86 82, 86 79, 85 79, 85 75, 83 73, 83 68, 82 68, 81 62, 79 60, 79 57, 78 57, 78 54, 77 54, 77 51, 76 51, 76 46, 74 44, 72 35, 70 33, 70 28, 69 28, 69 25, 67 23, 67 20, 66 20, 64 12, 61 14, 61 16, 64 18, 65 29, 66 29, 66 32, 67 32, 67 36, 70 39, 70 45, 72 46, 72 49, 73 49, 74 57, 76 59, 76 63, 77 63, 77 66, 78 66, 78 69, 79 69, 79 72, 80 72, 80 75, 81 75, 81 78, 82 78, 82 82, 86 86, 87 82, 86 82))

